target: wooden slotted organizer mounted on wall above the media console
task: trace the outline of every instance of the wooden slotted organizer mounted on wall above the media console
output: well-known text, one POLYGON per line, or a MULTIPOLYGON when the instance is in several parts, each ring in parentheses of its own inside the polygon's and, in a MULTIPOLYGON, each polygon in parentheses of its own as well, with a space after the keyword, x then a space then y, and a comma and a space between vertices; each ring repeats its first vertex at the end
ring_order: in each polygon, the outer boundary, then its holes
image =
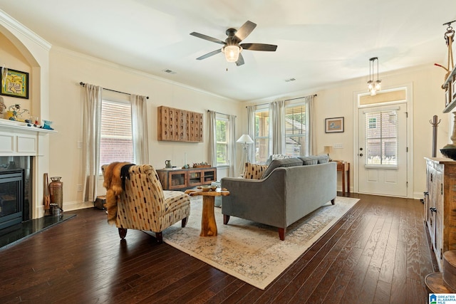
POLYGON ((158 112, 158 140, 172 142, 202 142, 203 115, 160 106, 158 112))

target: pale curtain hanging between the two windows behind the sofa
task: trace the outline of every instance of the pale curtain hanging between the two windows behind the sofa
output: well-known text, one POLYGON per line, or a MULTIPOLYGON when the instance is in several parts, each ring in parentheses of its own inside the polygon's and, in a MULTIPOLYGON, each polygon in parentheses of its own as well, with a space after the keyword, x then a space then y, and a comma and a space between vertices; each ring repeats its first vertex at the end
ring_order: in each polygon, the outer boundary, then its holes
POLYGON ((271 154, 285 154, 285 101, 277 100, 269 104, 271 124, 271 154))

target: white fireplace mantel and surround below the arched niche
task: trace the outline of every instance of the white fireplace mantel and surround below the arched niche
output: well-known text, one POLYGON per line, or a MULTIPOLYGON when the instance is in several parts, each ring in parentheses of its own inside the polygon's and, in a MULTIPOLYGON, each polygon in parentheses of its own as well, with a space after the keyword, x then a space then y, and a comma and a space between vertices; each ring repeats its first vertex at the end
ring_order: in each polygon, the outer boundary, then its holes
MULTIPOLYGON (((43 209, 43 160, 48 153, 48 137, 54 130, 28 127, 25 122, 0 119, 0 156, 30 156, 32 162, 32 218, 44 216, 43 209)), ((46 163, 46 162, 44 162, 46 163)))

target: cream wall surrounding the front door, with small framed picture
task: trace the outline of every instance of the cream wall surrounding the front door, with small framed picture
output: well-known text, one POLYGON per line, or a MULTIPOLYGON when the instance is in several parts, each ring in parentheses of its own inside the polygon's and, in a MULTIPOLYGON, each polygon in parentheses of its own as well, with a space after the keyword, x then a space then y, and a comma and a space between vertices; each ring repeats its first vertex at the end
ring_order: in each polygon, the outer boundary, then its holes
MULTIPOLYGON (((409 174, 409 184, 413 184, 413 197, 423 198, 425 191, 425 161, 424 157, 432 154, 432 127, 430 120, 433 115, 438 115, 442 121, 438 127, 437 136, 437 157, 442 157, 438 149, 445 146, 450 141, 449 119, 450 114, 442 113, 445 108, 445 93, 440 88, 444 78, 444 71, 436 68, 432 63, 417 66, 404 70, 396 70, 390 73, 380 74, 383 89, 398 88, 407 84, 413 86, 413 96, 411 100, 411 119, 413 119, 413 138, 412 145, 409 147, 413 154, 412 172, 409 174)), ((252 100, 249 104, 266 103, 276 99, 288 99, 317 94, 316 97, 316 143, 318 153, 323 153, 323 147, 341 143, 343 149, 334 149, 331 158, 343 159, 352 164, 351 170, 351 189, 353 190, 353 175, 356 174, 356 167, 353 167, 355 156, 355 141, 353 139, 353 113, 356 112, 357 93, 366 92, 366 78, 356 78, 337 83, 327 88, 316 88, 313 91, 301 91, 289 93, 284 96, 274 96, 262 100, 252 100), (345 117, 345 132, 325 133, 324 119, 328 117, 345 117)), ((341 175, 338 175, 338 189, 341 189, 341 175)))

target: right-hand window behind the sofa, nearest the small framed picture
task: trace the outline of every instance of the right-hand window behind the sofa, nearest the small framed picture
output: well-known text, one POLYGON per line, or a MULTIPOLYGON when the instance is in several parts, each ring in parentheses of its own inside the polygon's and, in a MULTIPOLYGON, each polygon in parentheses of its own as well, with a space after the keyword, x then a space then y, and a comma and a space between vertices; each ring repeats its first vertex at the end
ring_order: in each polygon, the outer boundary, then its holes
POLYGON ((309 119, 307 105, 285 108, 285 154, 290 157, 309 155, 309 119))

